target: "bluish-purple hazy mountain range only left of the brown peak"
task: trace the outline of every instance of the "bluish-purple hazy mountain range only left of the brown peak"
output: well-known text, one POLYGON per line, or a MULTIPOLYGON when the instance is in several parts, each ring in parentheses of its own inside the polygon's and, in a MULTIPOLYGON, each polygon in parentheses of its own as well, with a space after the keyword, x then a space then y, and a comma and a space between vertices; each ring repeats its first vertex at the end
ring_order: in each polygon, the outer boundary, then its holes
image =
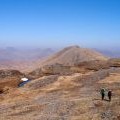
POLYGON ((51 48, 46 49, 16 49, 14 47, 7 47, 0 49, 0 61, 33 61, 44 58, 53 54, 55 50, 51 48))

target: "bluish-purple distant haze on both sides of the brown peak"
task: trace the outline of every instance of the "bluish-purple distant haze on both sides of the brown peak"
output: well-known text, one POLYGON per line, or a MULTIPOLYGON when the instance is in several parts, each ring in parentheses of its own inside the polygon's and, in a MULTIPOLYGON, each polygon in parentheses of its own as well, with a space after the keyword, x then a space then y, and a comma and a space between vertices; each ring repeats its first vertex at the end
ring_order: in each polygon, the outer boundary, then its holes
MULTIPOLYGON (((66 46, 67 47, 67 46, 66 46)), ((81 47, 81 46, 80 46, 81 47)), ((0 61, 36 61, 52 55, 64 47, 4 47, 0 48, 0 61)), ((92 48, 111 58, 120 57, 120 48, 92 48)))

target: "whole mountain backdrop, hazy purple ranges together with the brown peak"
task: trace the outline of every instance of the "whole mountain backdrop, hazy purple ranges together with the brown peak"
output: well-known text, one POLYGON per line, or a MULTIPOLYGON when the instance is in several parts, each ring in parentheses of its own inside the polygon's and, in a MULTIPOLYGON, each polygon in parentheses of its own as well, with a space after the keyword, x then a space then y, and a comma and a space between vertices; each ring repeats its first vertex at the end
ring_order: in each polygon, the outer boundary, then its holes
POLYGON ((108 57, 120 57, 119 51, 113 49, 87 49, 79 46, 70 46, 59 52, 57 51, 58 50, 52 48, 1 48, 0 69, 16 69, 29 72, 38 67, 56 63, 74 65, 84 61, 106 60, 108 57))

